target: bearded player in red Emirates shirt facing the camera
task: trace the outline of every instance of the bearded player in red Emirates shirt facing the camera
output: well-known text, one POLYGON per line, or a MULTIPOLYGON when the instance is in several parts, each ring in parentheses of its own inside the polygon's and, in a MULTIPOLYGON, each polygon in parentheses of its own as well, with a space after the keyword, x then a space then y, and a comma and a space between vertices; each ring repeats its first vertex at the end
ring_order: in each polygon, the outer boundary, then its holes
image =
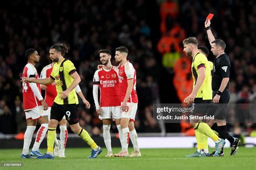
POLYGON ((102 62, 102 68, 96 70, 93 77, 93 99, 99 119, 103 121, 103 138, 107 148, 106 157, 113 157, 110 136, 111 119, 115 120, 120 140, 122 139, 118 69, 111 65, 111 52, 108 49, 99 51, 99 59, 102 62), (100 104, 98 102, 98 88, 100 88, 100 104))

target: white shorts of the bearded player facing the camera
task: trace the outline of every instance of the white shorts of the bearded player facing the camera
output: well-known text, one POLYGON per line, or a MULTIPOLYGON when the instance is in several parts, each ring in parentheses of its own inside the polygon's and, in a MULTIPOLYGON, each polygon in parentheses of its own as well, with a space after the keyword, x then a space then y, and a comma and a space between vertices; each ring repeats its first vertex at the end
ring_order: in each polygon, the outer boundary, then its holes
POLYGON ((99 115, 99 119, 120 119, 121 107, 102 107, 102 115, 99 115))

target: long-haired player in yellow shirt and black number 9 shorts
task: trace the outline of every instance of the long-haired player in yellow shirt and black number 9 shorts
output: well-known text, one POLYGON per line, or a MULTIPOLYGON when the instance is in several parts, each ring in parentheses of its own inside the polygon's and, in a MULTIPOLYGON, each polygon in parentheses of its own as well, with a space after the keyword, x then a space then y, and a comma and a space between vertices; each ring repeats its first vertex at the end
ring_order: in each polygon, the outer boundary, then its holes
POLYGON ((47 153, 39 159, 53 159, 53 145, 56 138, 56 127, 59 121, 65 115, 66 120, 70 124, 71 130, 78 134, 92 148, 92 153, 88 158, 96 158, 102 152, 95 141, 90 137, 79 125, 78 118, 78 98, 75 87, 81 81, 80 76, 76 72, 76 68, 70 60, 64 58, 68 53, 68 47, 65 44, 56 44, 50 48, 50 58, 56 64, 53 66, 50 77, 46 79, 29 79, 22 77, 24 82, 34 82, 38 84, 56 83, 57 96, 51 108, 51 119, 48 128, 47 137, 47 153))

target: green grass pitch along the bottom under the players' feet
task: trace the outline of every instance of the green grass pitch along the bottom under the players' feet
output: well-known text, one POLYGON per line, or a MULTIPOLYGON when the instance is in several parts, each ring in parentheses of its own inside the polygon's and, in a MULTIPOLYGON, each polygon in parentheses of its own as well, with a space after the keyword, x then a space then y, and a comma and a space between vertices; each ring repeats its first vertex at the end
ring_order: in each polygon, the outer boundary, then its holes
MULTIPOLYGON (((113 148, 113 153, 119 152, 113 148)), ((132 149, 130 149, 131 151, 132 149)), ((21 159, 22 150, 0 150, 0 164, 23 163, 16 169, 256 169, 256 147, 240 147, 237 155, 230 156, 230 148, 225 149, 225 157, 185 158, 196 148, 142 149, 141 158, 105 158, 106 149, 96 159, 87 159, 89 148, 66 148, 66 158, 21 159)), ((45 150, 42 150, 44 153, 45 150)), ((12 169, 0 167, 0 169, 12 169)))

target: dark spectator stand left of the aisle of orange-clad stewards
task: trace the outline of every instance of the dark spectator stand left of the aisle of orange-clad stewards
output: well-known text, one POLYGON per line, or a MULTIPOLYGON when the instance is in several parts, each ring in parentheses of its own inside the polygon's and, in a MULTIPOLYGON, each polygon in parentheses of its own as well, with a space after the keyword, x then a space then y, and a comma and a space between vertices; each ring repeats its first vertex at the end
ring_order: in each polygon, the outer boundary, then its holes
MULTIPOLYGON (((24 53, 37 49, 41 62, 38 74, 48 65, 49 48, 65 42, 70 51, 67 58, 75 64, 82 78, 80 87, 94 105, 92 79, 99 62, 99 49, 114 49, 120 45, 129 48, 129 60, 137 69, 139 109, 138 132, 159 131, 152 118, 152 103, 158 97, 156 59, 152 53, 151 29, 147 25, 147 8, 144 1, 16 1, 24 11, 1 8, 0 40, 0 132, 24 132, 26 128, 22 104, 22 83, 19 80, 26 64, 24 53), (28 10, 30 9, 30 10, 28 10), (125 12, 123 12, 125 11, 125 12), (31 13, 32 12, 32 13, 31 13), (15 22, 12 22, 14 21, 15 22)), ((115 61, 112 61, 116 65, 115 61)), ((81 103, 81 102, 80 102, 81 103)), ((95 107, 90 110, 80 104, 80 125, 95 135, 100 133, 102 122, 95 107)), ((112 131, 117 132, 116 126, 112 131)))

